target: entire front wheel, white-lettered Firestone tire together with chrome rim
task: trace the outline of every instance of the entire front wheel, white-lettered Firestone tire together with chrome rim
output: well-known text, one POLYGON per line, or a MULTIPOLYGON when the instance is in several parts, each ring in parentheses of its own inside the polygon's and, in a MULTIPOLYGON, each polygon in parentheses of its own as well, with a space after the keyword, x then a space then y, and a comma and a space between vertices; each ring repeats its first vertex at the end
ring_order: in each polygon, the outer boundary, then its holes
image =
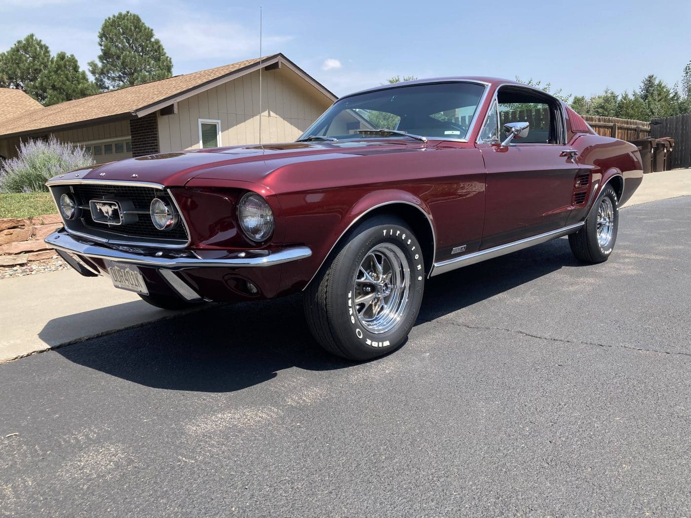
POLYGON ((334 253, 305 290, 314 338, 352 361, 401 347, 424 292, 425 265, 413 231, 399 218, 377 216, 359 224, 334 253))

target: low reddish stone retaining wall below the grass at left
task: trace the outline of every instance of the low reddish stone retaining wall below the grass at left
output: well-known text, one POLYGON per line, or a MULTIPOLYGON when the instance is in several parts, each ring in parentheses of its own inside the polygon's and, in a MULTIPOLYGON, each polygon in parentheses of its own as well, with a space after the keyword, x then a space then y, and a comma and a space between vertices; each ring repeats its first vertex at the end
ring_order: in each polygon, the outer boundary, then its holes
POLYGON ((62 222, 57 214, 0 219, 0 267, 55 256, 55 250, 48 247, 44 238, 59 227, 62 222))

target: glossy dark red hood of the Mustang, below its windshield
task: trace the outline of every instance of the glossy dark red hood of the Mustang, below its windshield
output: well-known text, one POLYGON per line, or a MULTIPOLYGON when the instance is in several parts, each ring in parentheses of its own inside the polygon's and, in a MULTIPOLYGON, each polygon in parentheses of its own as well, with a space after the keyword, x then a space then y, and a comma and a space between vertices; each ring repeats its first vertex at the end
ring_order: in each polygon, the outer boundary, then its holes
MULTIPOLYGON (((427 144, 429 146, 429 143, 427 144)), ((332 160, 357 155, 405 153, 426 147, 422 142, 359 140, 344 142, 288 142, 263 146, 234 146, 176 153, 159 153, 90 166, 55 180, 128 180, 167 187, 184 186, 192 178, 227 178, 261 184, 281 166, 305 160, 332 160)))

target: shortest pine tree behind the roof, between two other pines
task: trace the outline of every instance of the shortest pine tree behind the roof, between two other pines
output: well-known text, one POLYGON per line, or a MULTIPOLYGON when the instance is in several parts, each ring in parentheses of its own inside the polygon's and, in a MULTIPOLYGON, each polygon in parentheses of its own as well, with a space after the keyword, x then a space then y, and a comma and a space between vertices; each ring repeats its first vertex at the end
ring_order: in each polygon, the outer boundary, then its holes
POLYGON ((77 58, 66 52, 58 52, 50 60, 50 65, 39 78, 39 87, 46 92, 45 106, 98 93, 97 86, 79 68, 77 58))

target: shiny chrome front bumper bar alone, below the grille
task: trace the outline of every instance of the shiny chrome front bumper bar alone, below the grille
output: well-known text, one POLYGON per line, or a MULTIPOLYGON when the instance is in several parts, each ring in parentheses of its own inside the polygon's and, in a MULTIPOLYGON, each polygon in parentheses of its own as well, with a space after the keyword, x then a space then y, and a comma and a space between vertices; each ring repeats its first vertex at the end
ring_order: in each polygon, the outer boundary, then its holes
POLYGON ((140 265, 167 270, 182 270, 190 268, 243 268, 265 267, 281 265, 283 262, 296 261, 312 255, 308 247, 290 247, 276 251, 257 250, 240 251, 229 258, 201 259, 198 257, 157 257, 141 255, 126 251, 101 247, 91 242, 83 242, 70 236, 64 229, 57 230, 46 238, 46 243, 51 247, 76 253, 88 258, 109 259, 117 262, 126 262, 132 265, 140 265))

